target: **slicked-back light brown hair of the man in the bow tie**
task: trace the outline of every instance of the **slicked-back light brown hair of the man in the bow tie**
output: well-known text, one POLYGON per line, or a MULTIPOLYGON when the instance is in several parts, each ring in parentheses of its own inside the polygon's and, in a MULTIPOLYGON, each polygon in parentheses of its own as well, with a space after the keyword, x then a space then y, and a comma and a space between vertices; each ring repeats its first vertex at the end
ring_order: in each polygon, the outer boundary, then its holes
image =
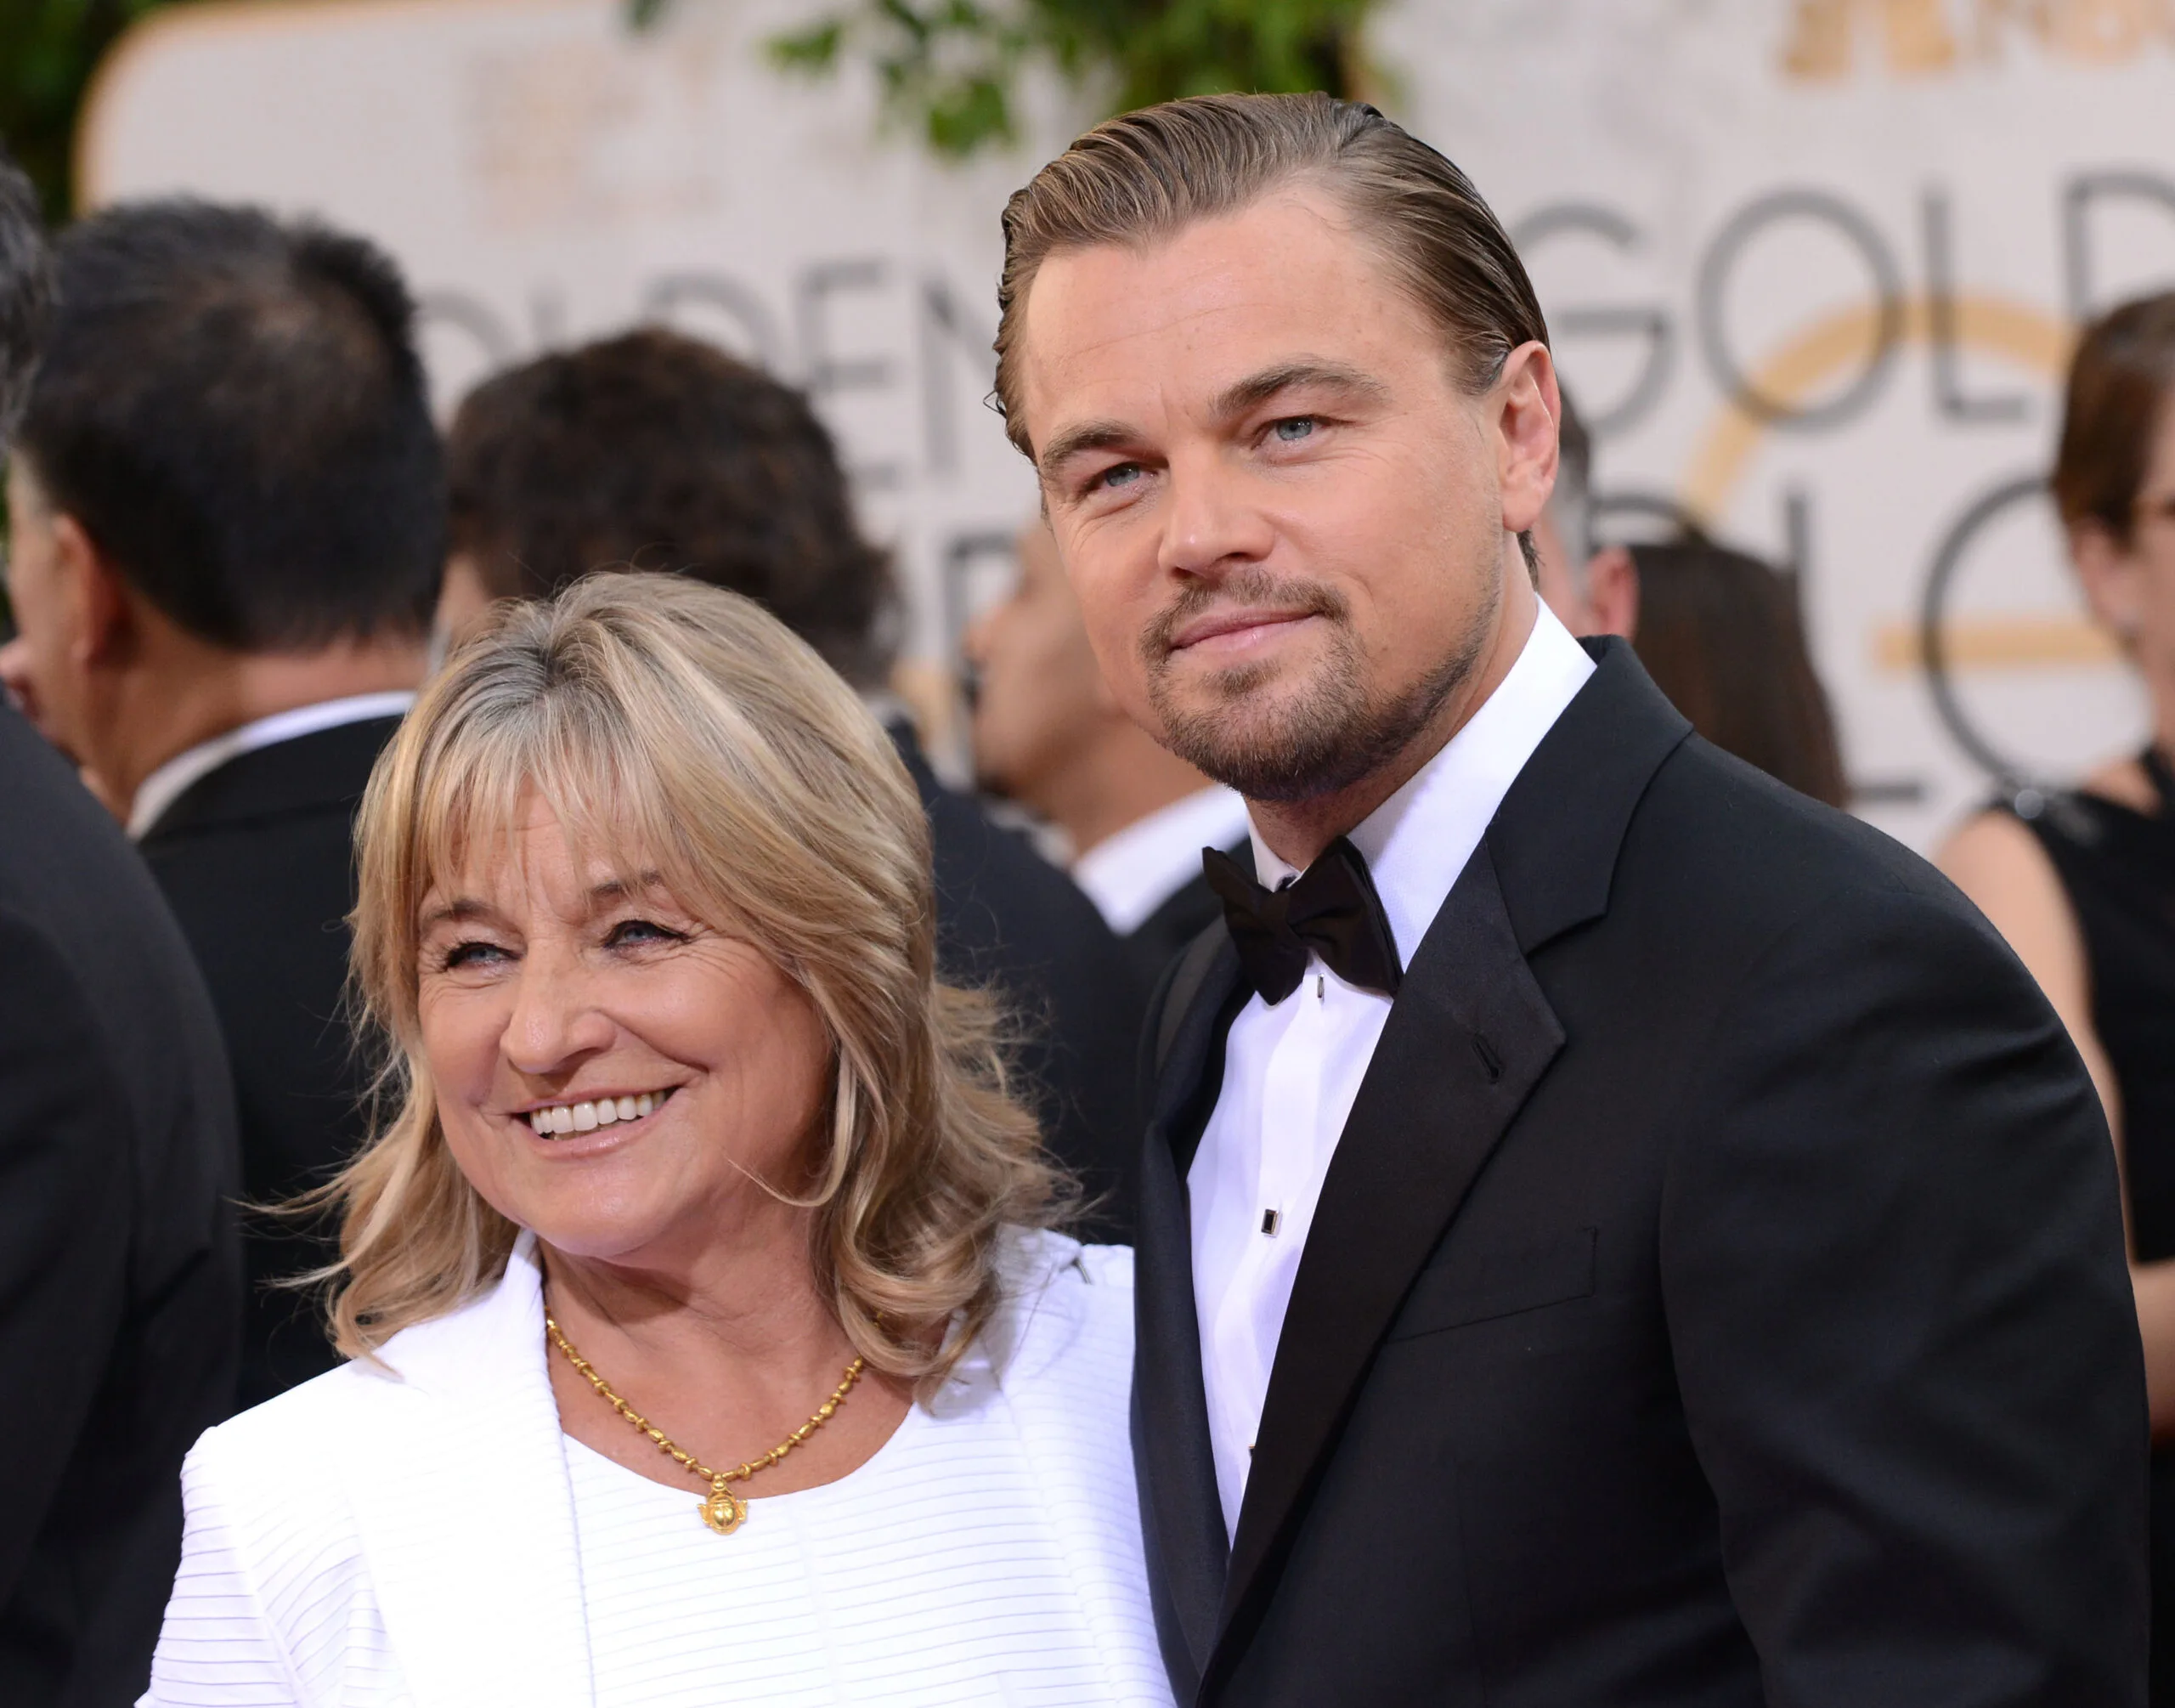
POLYGON ((1527 342, 1549 342, 1533 283, 1472 181, 1372 107, 1333 96, 1190 96, 1098 124, 1005 205, 996 400, 1020 413, 1027 292, 1051 255, 1153 244, 1285 185, 1327 191, 1442 326, 1470 392, 1527 342))

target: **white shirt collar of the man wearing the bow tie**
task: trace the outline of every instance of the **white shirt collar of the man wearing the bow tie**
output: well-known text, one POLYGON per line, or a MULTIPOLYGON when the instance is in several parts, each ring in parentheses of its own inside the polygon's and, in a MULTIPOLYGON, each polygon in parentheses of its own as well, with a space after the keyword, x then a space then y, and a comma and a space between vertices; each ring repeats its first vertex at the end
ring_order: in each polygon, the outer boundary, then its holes
MULTIPOLYGON (((1594 674, 1586 648, 1546 605, 1536 605, 1533 631, 1496 692, 1351 833, 1405 966, 1525 762, 1594 674)), ((1298 875, 1268 851, 1259 831, 1253 831, 1253 866, 1270 890, 1298 875)))

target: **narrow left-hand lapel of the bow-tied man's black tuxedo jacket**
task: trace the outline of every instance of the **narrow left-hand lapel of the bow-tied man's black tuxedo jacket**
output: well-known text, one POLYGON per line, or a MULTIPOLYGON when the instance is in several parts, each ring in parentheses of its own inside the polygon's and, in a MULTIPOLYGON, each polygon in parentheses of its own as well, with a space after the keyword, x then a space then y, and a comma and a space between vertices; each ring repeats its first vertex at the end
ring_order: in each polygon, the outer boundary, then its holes
MULTIPOLYGON (((1172 1040, 1142 1160, 1133 1255, 1133 1464, 1148 1582, 1172 1678, 1179 1656, 1170 1625, 1183 1636, 1192 1675, 1207 1667, 1229 1554, 1201 1379, 1185 1168, 1222 1084, 1222 1040, 1242 994, 1238 953, 1225 942, 1172 1040)), ((1181 1691, 1181 1699, 1185 1695, 1181 1691)))

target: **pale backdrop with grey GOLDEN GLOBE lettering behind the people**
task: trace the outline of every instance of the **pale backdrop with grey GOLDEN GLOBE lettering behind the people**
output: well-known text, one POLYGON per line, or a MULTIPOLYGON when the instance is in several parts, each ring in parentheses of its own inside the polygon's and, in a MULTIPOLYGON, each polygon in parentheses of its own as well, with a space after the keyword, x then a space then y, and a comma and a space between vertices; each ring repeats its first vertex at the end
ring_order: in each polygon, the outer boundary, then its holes
MULTIPOLYGON (((378 237, 448 405, 639 318, 807 385, 900 555, 903 688, 942 718, 1033 507, 983 407, 996 213, 1088 113, 1033 85, 1020 150, 940 163, 885 131, 863 70, 772 65, 800 15, 181 9, 107 63, 80 181, 89 205, 189 189, 378 237)), ((1370 59, 1518 235, 1596 429, 1603 529, 1686 513, 1799 572, 1868 818, 1927 846, 1994 775, 2142 740, 2042 476, 2079 315, 2175 285, 2175 11, 1401 0, 1370 59)))

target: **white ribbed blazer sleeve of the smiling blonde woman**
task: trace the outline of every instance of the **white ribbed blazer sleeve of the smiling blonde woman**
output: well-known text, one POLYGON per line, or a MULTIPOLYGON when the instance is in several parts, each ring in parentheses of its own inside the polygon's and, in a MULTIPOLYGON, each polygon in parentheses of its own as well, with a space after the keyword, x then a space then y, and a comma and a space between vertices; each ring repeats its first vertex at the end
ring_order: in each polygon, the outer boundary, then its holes
POLYGON ((207 1434, 181 1469, 181 1571, 137 1708, 302 1708, 307 1697, 220 1499, 211 1447, 207 1434))

